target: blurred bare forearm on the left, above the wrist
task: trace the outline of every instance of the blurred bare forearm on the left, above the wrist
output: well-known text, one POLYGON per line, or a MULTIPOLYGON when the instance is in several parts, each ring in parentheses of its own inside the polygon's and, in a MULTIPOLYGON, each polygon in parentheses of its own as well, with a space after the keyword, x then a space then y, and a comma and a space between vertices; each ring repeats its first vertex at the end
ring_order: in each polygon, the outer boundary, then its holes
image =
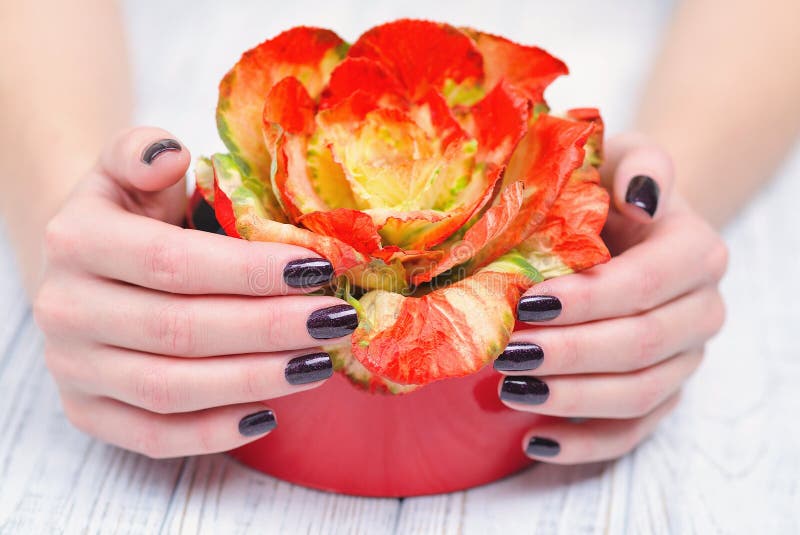
POLYGON ((47 221, 130 122, 130 76, 114 2, 3 2, 0 35, 0 209, 32 291, 47 221))

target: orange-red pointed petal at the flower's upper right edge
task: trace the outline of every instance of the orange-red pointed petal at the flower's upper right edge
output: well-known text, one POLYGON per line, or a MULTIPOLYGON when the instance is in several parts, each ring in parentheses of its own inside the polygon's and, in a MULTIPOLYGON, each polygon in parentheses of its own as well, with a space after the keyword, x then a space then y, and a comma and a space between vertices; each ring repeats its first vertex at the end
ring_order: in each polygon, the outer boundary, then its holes
POLYGON ((563 61, 541 48, 519 45, 471 28, 463 31, 472 37, 483 56, 487 87, 506 80, 534 103, 543 102, 545 88, 562 74, 569 73, 563 61))

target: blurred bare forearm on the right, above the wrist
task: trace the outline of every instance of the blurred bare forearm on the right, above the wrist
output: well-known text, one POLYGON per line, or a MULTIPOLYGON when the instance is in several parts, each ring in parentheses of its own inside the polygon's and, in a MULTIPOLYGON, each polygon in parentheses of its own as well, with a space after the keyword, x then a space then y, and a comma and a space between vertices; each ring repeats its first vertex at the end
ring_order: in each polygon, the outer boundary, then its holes
POLYGON ((664 145, 678 189, 721 226, 800 133, 795 0, 685 1, 645 91, 638 128, 664 145))

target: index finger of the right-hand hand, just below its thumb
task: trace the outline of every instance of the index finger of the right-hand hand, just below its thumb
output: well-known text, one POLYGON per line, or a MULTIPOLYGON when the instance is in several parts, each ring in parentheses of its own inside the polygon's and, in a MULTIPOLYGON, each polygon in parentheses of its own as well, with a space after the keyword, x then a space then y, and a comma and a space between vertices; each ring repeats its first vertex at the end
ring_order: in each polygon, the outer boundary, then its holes
POLYGON ((520 321, 564 325, 638 314, 722 278, 727 249, 697 216, 670 216, 647 240, 606 264, 535 285, 520 321))

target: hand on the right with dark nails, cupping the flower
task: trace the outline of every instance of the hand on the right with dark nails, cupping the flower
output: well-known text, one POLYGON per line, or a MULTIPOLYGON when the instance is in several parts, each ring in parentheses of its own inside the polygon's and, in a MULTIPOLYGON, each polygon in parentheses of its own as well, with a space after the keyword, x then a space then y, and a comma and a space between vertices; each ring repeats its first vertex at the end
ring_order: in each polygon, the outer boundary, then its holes
POLYGON ((524 438, 526 453, 547 462, 633 449, 675 406, 724 319, 717 284, 726 247, 670 195, 669 158, 635 136, 608 149, 604 238, 614 258, 533 287, 518 315, 535 327, 514 333, 495 361, 508 406, 563 417, 524 438))

